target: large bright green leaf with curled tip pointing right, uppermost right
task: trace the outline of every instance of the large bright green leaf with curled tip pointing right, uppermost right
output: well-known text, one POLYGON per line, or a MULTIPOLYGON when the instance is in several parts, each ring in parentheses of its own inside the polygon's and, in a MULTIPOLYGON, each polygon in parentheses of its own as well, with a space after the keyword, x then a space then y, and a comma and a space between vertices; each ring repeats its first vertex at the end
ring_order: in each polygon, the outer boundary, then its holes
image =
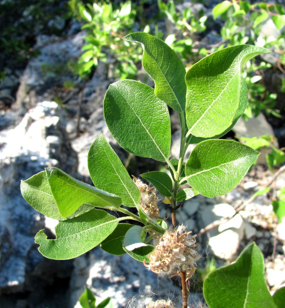
POLYGON ((232 124, 240 103, 241 68, 267 49, 238 45, 214 52, 186 73, 188 133, 213 137, 232 124))

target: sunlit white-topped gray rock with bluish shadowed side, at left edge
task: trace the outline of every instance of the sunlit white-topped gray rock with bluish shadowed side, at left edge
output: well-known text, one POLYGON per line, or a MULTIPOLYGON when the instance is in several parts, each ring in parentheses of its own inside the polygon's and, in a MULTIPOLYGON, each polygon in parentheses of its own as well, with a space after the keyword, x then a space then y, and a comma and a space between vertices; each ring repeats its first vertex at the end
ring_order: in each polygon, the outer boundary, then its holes
POLYGON ((28 267, 42 259, 34 244, 43 215, 23 199, 20 181, 56 166, 77 172, 77 156, 64 127, 65 111, 55 102, 38 103, 12 130, 0 132, 0 290, 24 290, 28 267))

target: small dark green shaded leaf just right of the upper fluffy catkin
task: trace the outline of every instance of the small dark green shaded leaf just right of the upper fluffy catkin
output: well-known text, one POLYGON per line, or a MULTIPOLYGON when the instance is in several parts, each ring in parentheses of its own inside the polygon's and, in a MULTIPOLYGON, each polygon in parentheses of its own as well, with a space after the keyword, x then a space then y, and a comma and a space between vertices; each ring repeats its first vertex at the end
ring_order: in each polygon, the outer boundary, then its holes
POLYGON ((140 174, 143 179, 148 180, 163 196, 172 196, 172 180, 170 176, 161 171, 151 171, 140 174))

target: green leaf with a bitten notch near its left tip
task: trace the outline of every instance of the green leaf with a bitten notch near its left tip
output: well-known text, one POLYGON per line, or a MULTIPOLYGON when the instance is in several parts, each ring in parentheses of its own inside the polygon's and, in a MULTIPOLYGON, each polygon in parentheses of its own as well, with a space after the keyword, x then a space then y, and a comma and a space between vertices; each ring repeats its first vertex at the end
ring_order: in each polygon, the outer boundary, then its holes
POLYGON ((43 230, 35 236, 39 252, 49 259, 67 260, 80 256, 109 236, 118 220, 105 210, 92 209, 79 217, 60 221, 56 239, 47 239, 43 230))

